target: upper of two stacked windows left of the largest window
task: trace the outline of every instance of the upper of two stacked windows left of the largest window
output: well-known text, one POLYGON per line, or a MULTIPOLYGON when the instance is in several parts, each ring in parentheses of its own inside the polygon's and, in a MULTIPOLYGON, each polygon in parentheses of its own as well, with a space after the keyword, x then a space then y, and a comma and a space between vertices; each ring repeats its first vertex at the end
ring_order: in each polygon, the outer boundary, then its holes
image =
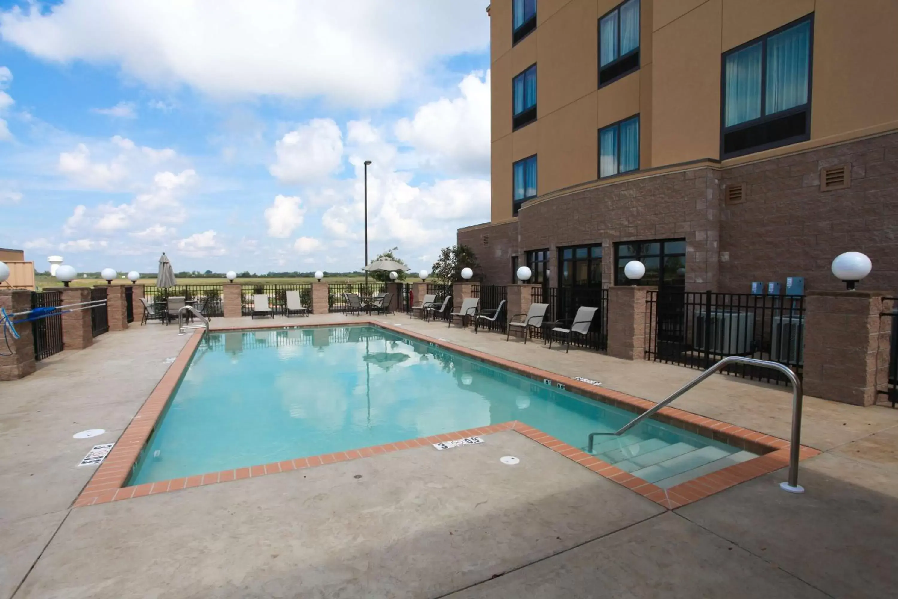
POLYGON ((639 0, 599 19, 599 87, 639 68, 639 0))

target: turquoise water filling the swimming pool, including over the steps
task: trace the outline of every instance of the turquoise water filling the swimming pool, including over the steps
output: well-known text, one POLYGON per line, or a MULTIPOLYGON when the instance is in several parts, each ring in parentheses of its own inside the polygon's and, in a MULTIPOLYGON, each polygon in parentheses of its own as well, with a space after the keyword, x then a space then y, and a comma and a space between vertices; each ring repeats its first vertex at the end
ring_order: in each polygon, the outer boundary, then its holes
MULTIPOLYGON (((589 433, 617 429, 631 418, 631 412, 376 327, 207 333, 129 484, 508 420, 584 447, 589 433)), ((656 421, 600 441, 599 457, 656 480, 738 459, 734 447, 656 421)))

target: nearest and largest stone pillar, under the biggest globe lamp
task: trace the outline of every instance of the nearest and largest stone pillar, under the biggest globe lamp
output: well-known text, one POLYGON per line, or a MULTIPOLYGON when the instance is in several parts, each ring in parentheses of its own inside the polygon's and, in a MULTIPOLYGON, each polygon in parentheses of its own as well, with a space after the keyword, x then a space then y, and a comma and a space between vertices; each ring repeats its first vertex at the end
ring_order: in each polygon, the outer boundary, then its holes
POLYGON ((879 291, 808 291, 803 385, 807 395, 858 406, 876 403, 889 371, 892 310, 879 291))

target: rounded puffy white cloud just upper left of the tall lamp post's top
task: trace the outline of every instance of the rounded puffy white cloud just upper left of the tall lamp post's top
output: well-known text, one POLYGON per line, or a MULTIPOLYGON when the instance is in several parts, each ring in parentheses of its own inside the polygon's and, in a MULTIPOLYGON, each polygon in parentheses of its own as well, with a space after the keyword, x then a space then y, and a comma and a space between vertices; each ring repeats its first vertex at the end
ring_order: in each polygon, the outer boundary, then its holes
POLYGON ((332 119, 312 119, 275 144, 277 163, 269 172, 280 181, 321 181, 339 170, 343 161, 343 134, 332 119))

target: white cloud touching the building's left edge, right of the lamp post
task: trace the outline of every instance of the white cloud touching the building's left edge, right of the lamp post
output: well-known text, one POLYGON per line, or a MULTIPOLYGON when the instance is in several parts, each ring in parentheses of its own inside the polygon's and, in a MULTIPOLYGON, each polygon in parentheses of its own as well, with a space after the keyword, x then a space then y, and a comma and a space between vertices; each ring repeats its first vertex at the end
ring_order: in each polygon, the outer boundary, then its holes
POLYGON ((414 145, 425 163, 453 172, 489 173, 489 71, 459 84, 462 96, 421 106, 396 123, 396 137, 414 145))

